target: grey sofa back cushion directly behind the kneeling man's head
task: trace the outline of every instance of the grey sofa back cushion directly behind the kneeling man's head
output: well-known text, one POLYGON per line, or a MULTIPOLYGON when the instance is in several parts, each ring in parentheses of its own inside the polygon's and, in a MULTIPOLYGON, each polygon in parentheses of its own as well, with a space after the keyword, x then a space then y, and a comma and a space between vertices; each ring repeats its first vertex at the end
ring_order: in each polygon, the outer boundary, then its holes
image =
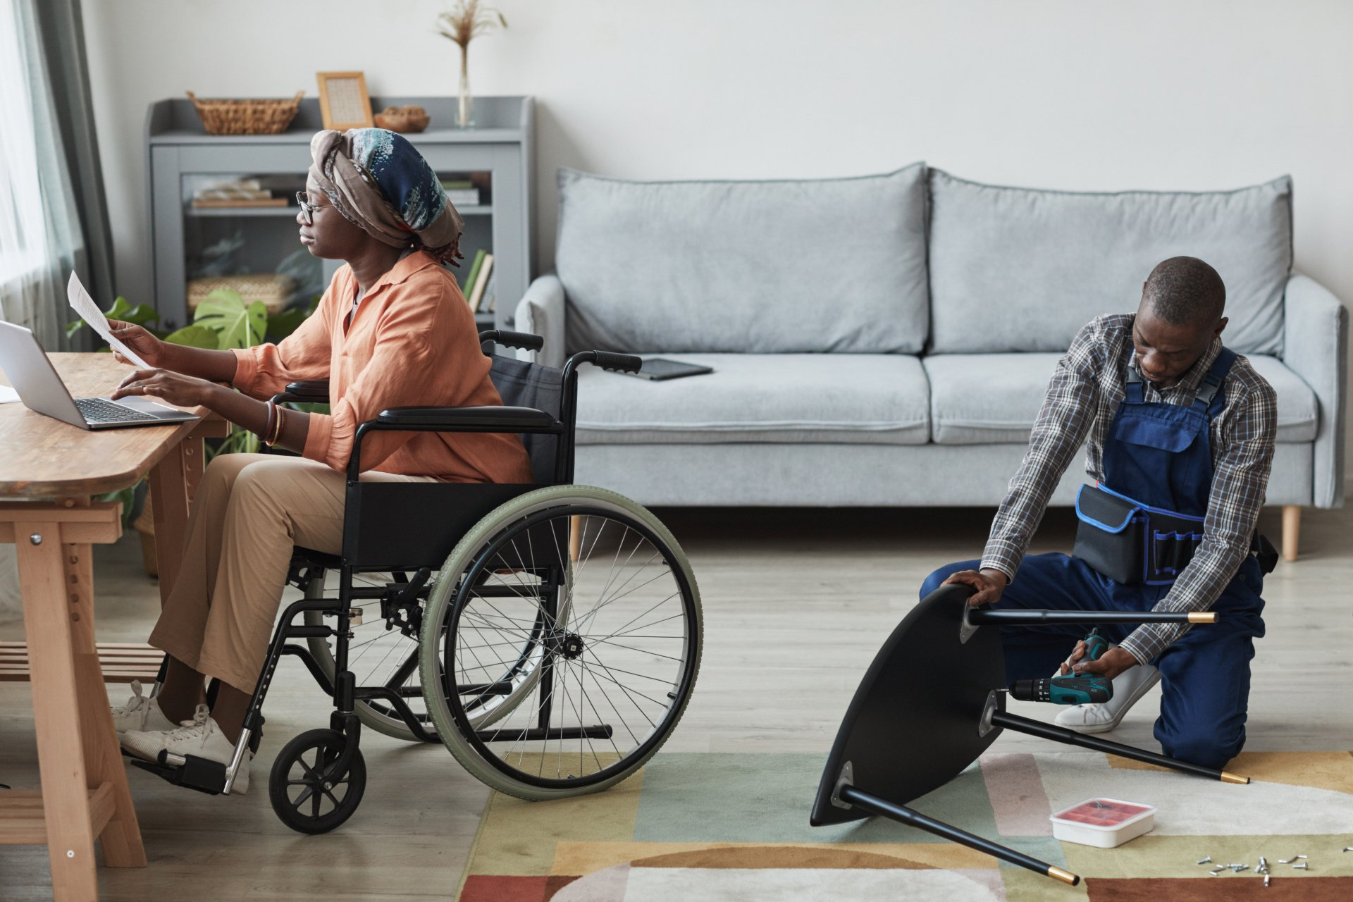
POLYGON ((932 169, 931 350, 1059 352, 1100 314, 1131 312, 1155 264, 1188 254, 1226 283, 1227 345, 1283 348, 1292 180, 1218 192, 1001 188, 932 169))

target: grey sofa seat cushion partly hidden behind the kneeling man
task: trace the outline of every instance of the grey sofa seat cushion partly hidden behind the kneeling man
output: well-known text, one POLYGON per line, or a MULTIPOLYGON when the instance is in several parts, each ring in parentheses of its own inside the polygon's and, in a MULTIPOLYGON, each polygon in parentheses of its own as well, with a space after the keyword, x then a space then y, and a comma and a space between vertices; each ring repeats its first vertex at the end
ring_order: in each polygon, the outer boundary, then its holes
MULTIPOLYGON (((1024 444, 1061 354, 934 354, 924 358, 940 445, 1024 444)), ((1277 441, 1315 440, 1315 392, 1276 357, 1250 357, 1277 394, 1277 441)))

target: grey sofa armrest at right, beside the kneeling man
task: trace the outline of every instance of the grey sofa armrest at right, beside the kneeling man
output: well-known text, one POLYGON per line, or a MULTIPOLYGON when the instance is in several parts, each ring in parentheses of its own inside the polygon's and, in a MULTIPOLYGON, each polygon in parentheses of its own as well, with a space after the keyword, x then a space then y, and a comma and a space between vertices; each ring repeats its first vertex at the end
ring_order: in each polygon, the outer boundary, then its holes
POLYGON ((1315 391, 1321 410, 1311 500, 1342 507, 1349 312, 1325 285, 1300 273, 1287 281, 1285 307, 1283 362, 1315 391))

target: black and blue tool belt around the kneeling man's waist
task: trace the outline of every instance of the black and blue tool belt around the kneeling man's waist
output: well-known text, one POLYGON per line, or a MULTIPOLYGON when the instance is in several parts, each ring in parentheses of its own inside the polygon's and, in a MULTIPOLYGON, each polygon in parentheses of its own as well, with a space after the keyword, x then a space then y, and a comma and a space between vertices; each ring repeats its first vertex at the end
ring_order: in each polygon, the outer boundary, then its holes
MULTIPOLYGON (((1072 553, 1116 583, 1169 586, 1203 544, 1203 518, 1149 507, 1101 485, 1076 495, 1076 546, 1072 553)), ((1277 552, 1258 533, 1250 541, 1264 573, 1277 552)))

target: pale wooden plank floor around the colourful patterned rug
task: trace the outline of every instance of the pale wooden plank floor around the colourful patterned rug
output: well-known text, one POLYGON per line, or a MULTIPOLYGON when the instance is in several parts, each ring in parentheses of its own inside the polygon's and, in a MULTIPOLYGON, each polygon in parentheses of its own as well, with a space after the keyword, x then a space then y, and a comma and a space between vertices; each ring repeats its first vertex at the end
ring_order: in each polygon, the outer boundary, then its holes
MULTIPOLYGON (((676 734, 679 751, 823 752, 888 630, 935 567, 981 553, 989 510, 664 510, 690 554, 705 606, 700 683, 676 734)), ((1261 523, 1275 541, 1277 511, 1261 523)), ((1053 511, 1035 550, 1068 549, 1068 511, 1053 511)), ((1302 560, 1265 587, 1268 636, 1258 644, 1249 744, 1264 749, 1353 749, 1353 510, 1307 511, 1302 560)), ((158 610, 135 537, 96 549, 100 641, 142 641, 158 610)), ((0 640, 20 638, 0 623, 0 640)), ((1158 692, 1158 690, 1155 691, 1158 692)), ((114 688, 120 702, 124 690, 114 688)), ((1155 694, 1112 738, 1158 748, 1155 694)), ((1047 706, 1022 713, 1051 719, 1047 706)), ((150 867, 100 868, 104 899, 446 898, 459 882, 486 790, 440 746, 363 733, 369 782, 337 833, 303 837, 267 799, 284 740, 327 722, 327 698, 284 659, 268 698, 268 738, 242 798, 177 790, 131 771, 150 867)), ((1046 748, 1004 734, 997 749, 1046 748)), ((0 683, 0 783, 37 787, 32 711, 24 684, 0 683)), ((804 798, 804 817, 810 799, 804 798)), ((0 847, 0 899, 47 899, 46 849, 0 847)))

